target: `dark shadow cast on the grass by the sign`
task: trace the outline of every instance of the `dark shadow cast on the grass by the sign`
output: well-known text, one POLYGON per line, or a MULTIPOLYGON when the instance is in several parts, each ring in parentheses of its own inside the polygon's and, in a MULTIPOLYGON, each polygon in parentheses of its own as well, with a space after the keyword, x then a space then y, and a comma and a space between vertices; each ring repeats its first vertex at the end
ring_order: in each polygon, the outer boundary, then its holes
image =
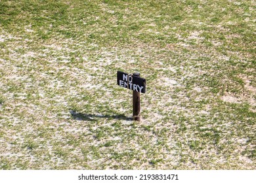
POLYGON ((97 118, 109 118, 109 119, 119 119, 119 120, 133 120, 133 118, 129 118, 123 114, 114 114, 114 115, 102 115, 102 114, 83 114, 80 112, 76 112, 75 110, 70 110, 70 114, 75 120, 80 121, 96 121, 97 118))

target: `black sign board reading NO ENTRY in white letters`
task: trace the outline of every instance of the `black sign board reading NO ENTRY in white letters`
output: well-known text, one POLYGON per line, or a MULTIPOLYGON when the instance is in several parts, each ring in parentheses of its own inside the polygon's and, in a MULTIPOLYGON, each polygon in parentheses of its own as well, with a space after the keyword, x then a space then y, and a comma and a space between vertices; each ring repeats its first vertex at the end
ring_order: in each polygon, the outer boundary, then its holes
POLYGON ((146 92, 146 79, 117 71, 117 85, 139 93, 146 92))

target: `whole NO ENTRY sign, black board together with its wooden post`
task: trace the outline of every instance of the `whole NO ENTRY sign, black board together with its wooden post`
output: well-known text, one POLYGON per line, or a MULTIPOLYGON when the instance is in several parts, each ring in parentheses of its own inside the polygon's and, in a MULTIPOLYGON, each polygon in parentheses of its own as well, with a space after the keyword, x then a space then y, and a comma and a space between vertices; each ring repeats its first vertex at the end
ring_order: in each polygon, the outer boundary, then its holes
POLYGON ((146 80, 140 78, 140 73, 117 71, 117 85, 133 90, 133 120, 140 121, 140 93, 146 92, 146 80))

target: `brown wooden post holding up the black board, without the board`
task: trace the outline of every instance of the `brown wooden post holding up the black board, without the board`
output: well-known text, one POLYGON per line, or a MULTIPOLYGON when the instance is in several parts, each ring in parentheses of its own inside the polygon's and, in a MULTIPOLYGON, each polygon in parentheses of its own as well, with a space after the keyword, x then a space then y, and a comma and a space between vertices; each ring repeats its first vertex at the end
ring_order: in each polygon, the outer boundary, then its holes
MULTIPOLYGON (((140 76, 140 73, 133 73, 133 76, 140 76)), ((133 90, 133 120, 140 122, 140 92, 133 90)))

